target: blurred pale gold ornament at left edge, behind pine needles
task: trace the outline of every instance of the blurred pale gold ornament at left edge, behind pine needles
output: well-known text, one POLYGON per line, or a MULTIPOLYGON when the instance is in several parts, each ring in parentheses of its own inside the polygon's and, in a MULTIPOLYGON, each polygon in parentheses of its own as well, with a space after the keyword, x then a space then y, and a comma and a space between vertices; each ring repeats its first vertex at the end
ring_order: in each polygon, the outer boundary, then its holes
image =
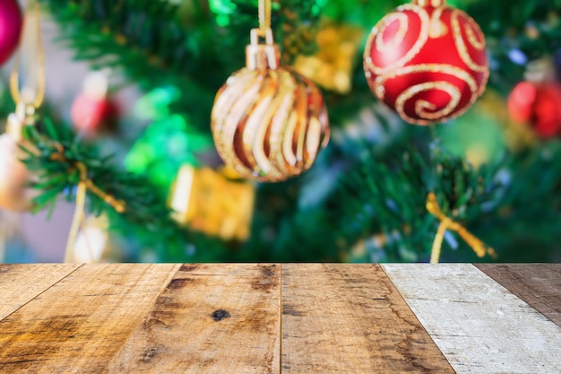
POLYGON ((26 153, 21 145, 32 149, 22 139, 22 126, 28 120, 32 107, 19 106, 8 117, 6 133, 0 135, 0 208, 13 212, 27 212, 33 207, 31 199, 39 192, 30 187, 32 175, 21 161, 26 153))

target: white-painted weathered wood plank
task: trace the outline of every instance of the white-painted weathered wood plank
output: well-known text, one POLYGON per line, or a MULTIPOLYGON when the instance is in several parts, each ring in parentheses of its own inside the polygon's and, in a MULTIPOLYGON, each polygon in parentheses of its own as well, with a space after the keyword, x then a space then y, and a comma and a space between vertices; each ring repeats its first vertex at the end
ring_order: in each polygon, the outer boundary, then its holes
POLYGON ((561 328, 473 265, 383 265, 457 373, 561 372, 561 328))

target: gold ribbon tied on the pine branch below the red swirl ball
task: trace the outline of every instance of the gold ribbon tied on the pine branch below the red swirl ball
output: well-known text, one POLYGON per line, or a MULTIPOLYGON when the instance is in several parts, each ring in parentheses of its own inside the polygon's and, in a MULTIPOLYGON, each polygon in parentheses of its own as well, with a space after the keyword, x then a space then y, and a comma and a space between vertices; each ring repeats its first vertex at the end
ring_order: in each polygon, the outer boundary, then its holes
POLYGON ((440 224, 438 225, 438 230, 436 230, 435 241, 433 242, 433 248, 430 255, 430 263, 438 264, 440 258, 440 251, 442 248, 442 241, 444 239, 444 233, 446 230, 453 230, 458 233, 465 240, 471 249, 475 252, 478 257, 485 257, 489 255, 490 257, 496 258, 496 252, 493 248, 488 247, 481 240, 476 238, 470 231, 462 226, 461 223, 453 221, 452 218, 445 215, 438 202, 436 201, 436 196, 434 193, 430 192, 427 196, 427 211, 434 215, 440 224))

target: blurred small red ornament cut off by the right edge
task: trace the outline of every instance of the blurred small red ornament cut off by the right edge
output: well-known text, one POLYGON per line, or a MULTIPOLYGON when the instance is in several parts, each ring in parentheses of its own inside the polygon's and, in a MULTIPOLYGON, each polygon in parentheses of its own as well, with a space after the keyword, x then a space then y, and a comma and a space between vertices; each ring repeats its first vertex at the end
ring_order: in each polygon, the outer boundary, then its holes
POLYGON ((543 138, 561 135, 561 85, 559 83, 518 83, 508 97, 508 114, 530 124, 543 138))

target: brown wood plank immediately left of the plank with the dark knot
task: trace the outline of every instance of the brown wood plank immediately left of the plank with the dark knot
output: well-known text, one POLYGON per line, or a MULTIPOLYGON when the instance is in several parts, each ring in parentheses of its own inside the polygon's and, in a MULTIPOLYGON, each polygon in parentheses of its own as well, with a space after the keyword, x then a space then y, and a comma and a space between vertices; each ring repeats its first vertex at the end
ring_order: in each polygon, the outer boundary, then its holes
POLYGON ((0 372, 103 372, 178 267, 82 265, 0 322, 0 372))

